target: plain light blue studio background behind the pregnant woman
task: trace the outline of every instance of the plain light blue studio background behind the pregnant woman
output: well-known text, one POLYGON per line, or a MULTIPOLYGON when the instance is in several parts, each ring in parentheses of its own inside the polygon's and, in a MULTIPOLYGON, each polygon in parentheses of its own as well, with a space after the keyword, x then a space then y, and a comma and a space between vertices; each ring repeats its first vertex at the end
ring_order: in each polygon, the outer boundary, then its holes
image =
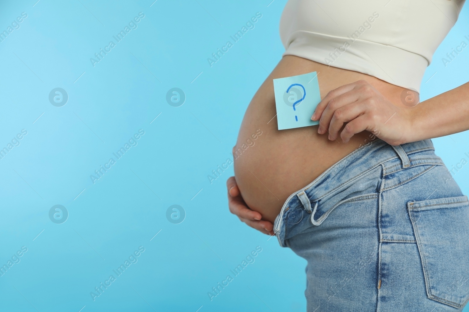
MULTIPOLYGON (((1 2, 1 30, 28 17, 0 43, 0 146, 28 134, 0 160, 0 262, 28 251, 0 277, 0 311, 304 311, 305 261, 229 213, 232 166, 207 178, 231 157, 250 99, 281 58, 286 0, 80 1, 1 2), (139 12, 138 28, 93 67, 139 12), (256 12, 255 28, 211 67, 207 58, 256 12), (55 87, 69 96, 60 108, 48 101, 55 87), (173 87, 186 94, 181 107, 166 103, 173 87), (92 184, 139 129, 138 145, 92 184), (61 225, 48 218, 56 204, 69 212, 61 225), (166 219, 173 204, 187 214, 178 225, 166 219), (139 246, 138 262, 93 302, 94 287, 139 246), (256 261, 211 302, 207 292, 256 246, 256 261)), ((468 26, 466 6, 425 73, 422 100, 469 80, 469 48, 441 62, 468 26)), ((433 142, 451 168, 468 138, 433 142)), ((467 167, 455 176, 466 194, 468 177, 467 167)))

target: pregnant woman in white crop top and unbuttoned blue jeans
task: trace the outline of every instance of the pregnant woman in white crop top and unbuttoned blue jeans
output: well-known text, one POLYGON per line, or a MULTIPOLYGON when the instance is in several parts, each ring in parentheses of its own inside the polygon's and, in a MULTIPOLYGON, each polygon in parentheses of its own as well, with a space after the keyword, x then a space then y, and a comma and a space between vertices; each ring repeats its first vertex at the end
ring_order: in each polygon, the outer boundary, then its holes
POLYGON ((430 139, 469 129, 469 83, 418 102, 463 3, 287 2, 286 52, 244 115, 227 186, 232 213, 308 261, 308 311, 461 311, 468 302, 468 197, 430 139), (319 125, 277 130, 272 80, 314 71, 319 125))

